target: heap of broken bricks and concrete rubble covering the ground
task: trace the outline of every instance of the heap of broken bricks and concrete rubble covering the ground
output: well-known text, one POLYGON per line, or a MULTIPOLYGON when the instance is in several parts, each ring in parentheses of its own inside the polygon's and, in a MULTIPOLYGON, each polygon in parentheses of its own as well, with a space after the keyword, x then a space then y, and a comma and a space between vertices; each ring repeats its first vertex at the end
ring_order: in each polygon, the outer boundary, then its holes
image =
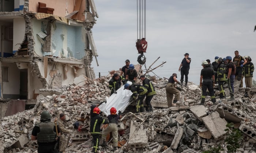
MULTIPOLYGON (((109 79, 110 75, 95 80, 81 76, 77 82, 74 81, 74 85, 61 89, 41 90, 33 109, 0 120, 0 152, 37 152, 37 143, 30 140, 30 134, 35 122, 39 122, 43 110, 50 111, 52 121, 60 112, 65 113, 68 129, 73 130, 66 136, 69 145, 65 153, 91 152, 90 106, 104 101, 109 95, 109 79), (76 121, 82 126, 79 131, 73 126, 76 121)), ((243 141, 237 152, 255 153, 255 88, 238 90, 236 87, 235 101, 227 101, 226 97, 222 100, 217 99, 218 103, 215 105, 209 101, 210 97, 207 97, 207 102, 203 106, 196 105, 200 102, 201 89, 189 82, 188 87, 181 88, 181 101, 176 107, 167 108, 167 80, 151 79, 157 91, 157 95, 151 101, 153 112, 133 114, 134 107, 127 107, 118 124, 119 147, 115 152, 196 153, 217 145, 226 149, 226 124, 233 122, 234 127, 243 133, 243 141), (247 96, 244 96, 245 90, 247 96)), ((227 89, 226 93, 229 93, 227 89)), ((108 146, 99 148, 101 152, 110 153, 112 142, 109 141, 108 146)))

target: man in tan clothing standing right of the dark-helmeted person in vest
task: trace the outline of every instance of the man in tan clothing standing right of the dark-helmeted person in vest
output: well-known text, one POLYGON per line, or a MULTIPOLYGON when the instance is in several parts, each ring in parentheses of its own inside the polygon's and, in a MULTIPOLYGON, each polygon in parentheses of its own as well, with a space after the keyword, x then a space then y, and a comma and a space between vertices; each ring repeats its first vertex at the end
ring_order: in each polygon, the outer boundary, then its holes
POLYGON ((71 133, 71 130, 68 130, 65 128, 65 125, 67 125, 66 122, 66 116, 64 113, 61 113, 57 119, 57 123, 59 124, 59 128, 60 128, 60 149, 59 149, 59 153, 62 153, 65 151, 66 147, 67 147, 67 140, 65 139, 65 134, 69 134, 71 133))

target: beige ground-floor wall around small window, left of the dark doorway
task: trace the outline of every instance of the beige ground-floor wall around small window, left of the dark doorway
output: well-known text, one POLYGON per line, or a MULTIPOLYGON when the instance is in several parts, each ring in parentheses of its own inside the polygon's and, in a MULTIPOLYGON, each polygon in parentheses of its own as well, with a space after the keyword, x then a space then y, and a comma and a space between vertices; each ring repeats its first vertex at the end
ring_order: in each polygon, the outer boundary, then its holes
POLYGON ((9 67, 9 82, 3 82, 3 94, 19 94, 20 73, 15 63, 2 63, 9 67))

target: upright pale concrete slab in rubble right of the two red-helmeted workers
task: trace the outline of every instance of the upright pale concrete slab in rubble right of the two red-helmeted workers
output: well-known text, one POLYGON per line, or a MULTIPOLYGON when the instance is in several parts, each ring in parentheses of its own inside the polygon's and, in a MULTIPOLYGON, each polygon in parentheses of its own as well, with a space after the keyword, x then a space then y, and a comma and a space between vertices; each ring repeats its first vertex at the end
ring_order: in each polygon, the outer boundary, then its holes
POLYGON ((143 125, 139 125, 136 121, 131 121, 130 140, 128 146, 130 148, 145 148, 147 143, 147 133, 143 125), (138 125, 137 125, 138 124, 138 125), (139 126, 138 128, 136 128, 139 126))

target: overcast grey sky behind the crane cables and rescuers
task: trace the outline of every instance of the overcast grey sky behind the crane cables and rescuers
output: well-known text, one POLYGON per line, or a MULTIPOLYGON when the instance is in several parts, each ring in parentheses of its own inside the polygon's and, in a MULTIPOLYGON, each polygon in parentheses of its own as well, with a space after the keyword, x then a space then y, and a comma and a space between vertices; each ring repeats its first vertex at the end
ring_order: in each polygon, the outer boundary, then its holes
MULTIPOLYGON (((125 59, 138 64, 137 0, 95 0, 95 5, 99 18, 92 31, 99 66, 94 59, 92 67, 98 78, 99 72, 119 70, 125 59)), ((188 81, 198 85, 206 59, 233 57, 238 50, 256 61, 255 6, 255 0, 147 0, 147 68, 160 56, 152 68, 166 63, 153 72, 161 78, 176 72, 180 80, 178 68, 188 52, 188 81)))

